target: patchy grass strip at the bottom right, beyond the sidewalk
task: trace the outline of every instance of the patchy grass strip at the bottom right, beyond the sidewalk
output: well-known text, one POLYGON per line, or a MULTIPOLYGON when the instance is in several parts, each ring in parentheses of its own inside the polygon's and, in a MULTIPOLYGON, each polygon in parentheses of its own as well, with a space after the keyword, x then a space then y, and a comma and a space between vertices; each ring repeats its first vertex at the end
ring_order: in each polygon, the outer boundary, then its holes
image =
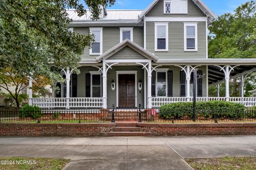
POLYGON ((256 157, 191 158, 185 159, 195 170, 254 170, 256 157))

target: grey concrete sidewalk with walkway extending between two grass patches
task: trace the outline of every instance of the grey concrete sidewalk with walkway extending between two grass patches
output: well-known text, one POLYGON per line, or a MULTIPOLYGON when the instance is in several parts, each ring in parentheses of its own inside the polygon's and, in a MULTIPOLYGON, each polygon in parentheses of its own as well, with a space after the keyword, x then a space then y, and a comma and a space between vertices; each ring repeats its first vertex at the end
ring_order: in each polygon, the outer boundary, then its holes
POLYGON ((65 169, 191 169, 183 158, 255 155, 256 136, 0 137, 0 157, 71 159, 65 169))

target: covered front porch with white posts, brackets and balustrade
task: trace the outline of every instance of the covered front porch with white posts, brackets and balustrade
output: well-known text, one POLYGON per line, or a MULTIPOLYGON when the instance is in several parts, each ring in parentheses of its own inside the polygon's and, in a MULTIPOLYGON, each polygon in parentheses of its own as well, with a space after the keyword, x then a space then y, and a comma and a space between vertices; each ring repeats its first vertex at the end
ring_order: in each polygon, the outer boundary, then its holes
MULTIPOLYGON (((62 70, 66 83, 54 98, 32 98, 29 104, 43 108, 159 108, 162 105, 193 100, 193 73, 196 72, 197 101, 225 100, 256 105, 255 97, 244 97, 244 80, 256 71, 255 59, 158 59, 130 40, 125 40, 96 62, 81 62, 81 74, 73 77, 69 68, 62 70), (229 82, 239 78, 240 97, 230 97, 229 82), (225 82, 226 94, 219 95, 225 82), (75 86, 74 86, 75 84, 75 86), (73 86, 75 88, 73 88, 73 86), (209 97, 209 86, 217 87, 216 97, 209 97), (67 88, 70 87, 70 88, 67 88)), ((30 80, 29 86, 33 81, 30 80)))

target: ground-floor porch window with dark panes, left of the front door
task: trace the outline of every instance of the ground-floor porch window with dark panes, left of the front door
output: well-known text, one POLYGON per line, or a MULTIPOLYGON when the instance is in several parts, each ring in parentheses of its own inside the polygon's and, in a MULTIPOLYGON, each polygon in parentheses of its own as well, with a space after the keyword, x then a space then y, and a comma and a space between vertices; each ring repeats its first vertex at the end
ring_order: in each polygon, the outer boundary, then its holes
POLYGON ((91 73, 91 97, 101 97, 101 73, 91 73))

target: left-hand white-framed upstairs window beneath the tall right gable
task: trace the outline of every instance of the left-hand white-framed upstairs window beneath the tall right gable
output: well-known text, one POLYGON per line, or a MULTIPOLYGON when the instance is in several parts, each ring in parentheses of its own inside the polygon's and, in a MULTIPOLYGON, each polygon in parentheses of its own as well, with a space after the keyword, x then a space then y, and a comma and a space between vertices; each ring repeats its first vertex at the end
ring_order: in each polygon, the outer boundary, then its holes
POLYGON ((168 23, 155 23, 155 51, 168 51, 168 23))

